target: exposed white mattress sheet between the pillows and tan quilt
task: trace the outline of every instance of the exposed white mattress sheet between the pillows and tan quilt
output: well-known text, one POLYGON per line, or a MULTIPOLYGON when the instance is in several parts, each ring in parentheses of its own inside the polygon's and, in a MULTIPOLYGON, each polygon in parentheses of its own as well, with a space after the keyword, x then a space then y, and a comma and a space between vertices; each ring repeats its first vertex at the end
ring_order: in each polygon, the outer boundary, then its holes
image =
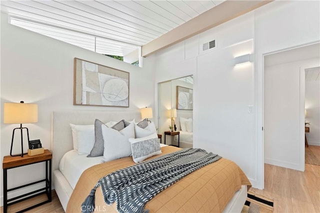
POLYGON ((76 150, 66 152, 60 160, 59 170, 69 182, 72 189, 80 178, 81 173, 92 165, 102 162, 103 156, 86 157, 87 154, 78 154, 76 150))

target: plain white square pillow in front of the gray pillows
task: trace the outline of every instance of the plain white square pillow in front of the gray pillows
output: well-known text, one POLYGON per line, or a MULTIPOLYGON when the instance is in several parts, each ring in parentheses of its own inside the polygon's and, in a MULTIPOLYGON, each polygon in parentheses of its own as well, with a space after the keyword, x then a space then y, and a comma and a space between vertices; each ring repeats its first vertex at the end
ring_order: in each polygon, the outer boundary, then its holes
POLYGON ((134 123, 131 122, 120 131, 101 125, 104 141, 103 161, 126 157, 131 155, 129 138, 134 137, 134 123))

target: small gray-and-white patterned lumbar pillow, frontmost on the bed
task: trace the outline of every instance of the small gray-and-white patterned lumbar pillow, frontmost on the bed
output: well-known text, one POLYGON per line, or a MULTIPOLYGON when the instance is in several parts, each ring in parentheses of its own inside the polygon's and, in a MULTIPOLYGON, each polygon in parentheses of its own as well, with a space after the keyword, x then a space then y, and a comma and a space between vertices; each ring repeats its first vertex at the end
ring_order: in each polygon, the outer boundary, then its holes
POLYGON ((150 156, 162 153, 156 133, 141 138, 129 138, 129 142, 134 162, 141 162, 150 156))

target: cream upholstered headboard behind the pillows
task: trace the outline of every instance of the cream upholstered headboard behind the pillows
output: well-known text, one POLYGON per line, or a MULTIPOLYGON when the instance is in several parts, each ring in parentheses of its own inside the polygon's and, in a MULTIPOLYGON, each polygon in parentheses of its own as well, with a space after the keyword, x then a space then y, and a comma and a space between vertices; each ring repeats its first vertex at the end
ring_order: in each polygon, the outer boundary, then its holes
POLYGON ((94 124, 95 118, 106 123, 125 119, 141 120, 139 111, 54 111, 51 123, 52 168, 58 169, 63 154, 73 149, 72 133, 69 123, 78 125, 94 124))

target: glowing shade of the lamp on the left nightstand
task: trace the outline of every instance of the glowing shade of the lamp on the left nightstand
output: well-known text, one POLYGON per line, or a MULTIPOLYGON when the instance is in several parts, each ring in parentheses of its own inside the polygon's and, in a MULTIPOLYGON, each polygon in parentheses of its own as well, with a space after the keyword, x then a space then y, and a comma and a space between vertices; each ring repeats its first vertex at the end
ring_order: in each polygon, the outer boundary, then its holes
POLYGON ((35 123, 38 105, 35 103, 4 103, 3 123, 35 123))

